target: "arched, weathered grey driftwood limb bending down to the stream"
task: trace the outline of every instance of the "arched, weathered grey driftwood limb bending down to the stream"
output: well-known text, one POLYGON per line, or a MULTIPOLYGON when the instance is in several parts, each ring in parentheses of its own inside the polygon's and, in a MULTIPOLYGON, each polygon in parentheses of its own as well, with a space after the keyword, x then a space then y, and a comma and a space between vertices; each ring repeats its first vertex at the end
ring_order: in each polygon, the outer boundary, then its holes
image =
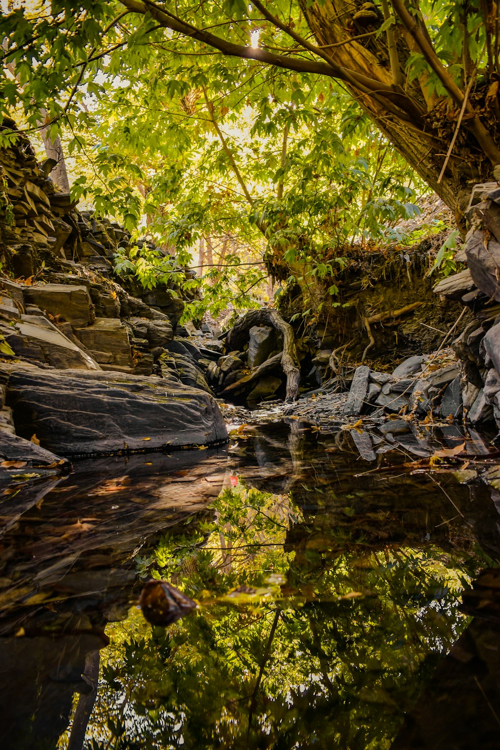
MULTIPOLYGON (((247 343, 253 326, 273 326, 283 335, 283 352, 280 356, 281 366, 286 374, 286 400, 294 401, 297 398, 298 384, 301 380, 295 351, 295 334, 292 326, 286 323, 276 310, 271 310, 271 308, 252 310, 238 320, 227 335, 226 350, 241 350, 247 343)), ((241 380, 237 383, 241 384, 241 380)))

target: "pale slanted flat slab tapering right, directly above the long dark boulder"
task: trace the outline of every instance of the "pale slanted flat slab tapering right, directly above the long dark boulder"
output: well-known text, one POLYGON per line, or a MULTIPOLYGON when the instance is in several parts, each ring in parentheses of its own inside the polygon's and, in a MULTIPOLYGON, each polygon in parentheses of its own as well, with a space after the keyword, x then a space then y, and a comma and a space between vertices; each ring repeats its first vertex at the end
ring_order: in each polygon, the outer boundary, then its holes
POLYGON ((97 362, 64 336, 46 317, 22 315, 15 326, 0 326, 17 356, 66 370, 99 370, 97 362))

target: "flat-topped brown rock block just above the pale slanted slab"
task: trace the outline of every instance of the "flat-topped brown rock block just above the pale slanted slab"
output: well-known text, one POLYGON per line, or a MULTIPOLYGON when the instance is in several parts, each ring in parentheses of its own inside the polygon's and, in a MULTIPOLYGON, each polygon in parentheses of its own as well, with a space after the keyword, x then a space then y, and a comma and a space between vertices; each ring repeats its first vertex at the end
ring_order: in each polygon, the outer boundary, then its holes
POLYGON ((64 284, 35 284, 26 287, 25 303, 37 305, 53 317, 61 317, 72 326, 88 326, 94 320, 91 299, 86 287, 68 287, 64 284))

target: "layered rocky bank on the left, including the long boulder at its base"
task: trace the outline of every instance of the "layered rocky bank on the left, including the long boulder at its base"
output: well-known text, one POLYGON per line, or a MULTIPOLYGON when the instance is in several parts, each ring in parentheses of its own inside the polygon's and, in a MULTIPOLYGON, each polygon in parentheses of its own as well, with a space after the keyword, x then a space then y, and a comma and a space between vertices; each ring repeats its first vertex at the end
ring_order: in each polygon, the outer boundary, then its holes
MULTIPOLYGON (((25 458, 33 435, 61 455, 224 440, 196 359, 188 376, 175 353, 159 362, 182 300, 113 278, 112 256, 130 236, 77 211, 23 136, 0 150, 0 177, 0 458, 25 458), (3 449, 2 426, 17 436, 3 449)), ((56 463, 43 458, 34 465, 56 463)))

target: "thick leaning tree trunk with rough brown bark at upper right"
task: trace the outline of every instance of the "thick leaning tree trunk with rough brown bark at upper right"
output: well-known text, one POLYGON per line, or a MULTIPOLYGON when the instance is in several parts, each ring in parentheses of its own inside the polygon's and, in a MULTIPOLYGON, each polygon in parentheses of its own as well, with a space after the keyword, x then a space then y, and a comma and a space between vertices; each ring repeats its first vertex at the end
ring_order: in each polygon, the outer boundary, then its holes
MULTIPOLYGON (((349 0, 313 3, 300 0, 300 5, 318 45, 326 47, 325 52, 337 68, 353 74, 346 87, 361 107, 421 178, 460 218, 469 200, 471 184, 492 179, 494 163, 500 163, 500 151, 487 127, 478 124, 478 116, 473 116, 475 111, 461 124, 460 138, 451 151, 445 175, 439 181, 460 109, 457 101, 454 101, 453 87, 448 97, 437 97, 435 93, 430 93, 427 70, 415 80, 407 80, 404 89, 395 85, 391 70, 395 65, 394 48, 391 49, 389 65, 386 34, 376 34, 383 22, 382 13, 379 12, 379 20, 366 26, 366 22, 361 24, 356 20, 356 10, 361 8, 361 4, 354 5, 349 0), (349 41, 361 34, 365 34, 365 37, 349 41), (362 77, 379 81, 380 90, 368 90, 362 77)), ((391 5, 397 16, 398 6, 406 4, 393 1, 391 5)), ((391 34, 397 34, 400 71, 405 71, 410 55, 421 52, 421 47, 401 23, 400 17, 397 20, 397 25, 391 27, 396 31, 391 31, 391 34)), ((436 66, 439 67, 438 64, 436 66)), ((447 70, 443 70, 447 74, 447 70)), ((463 96, 460 91, 458 95, 463 96)), ((493 113, 484 111, 481 116, 486 124, 490 121, 494 132, 493 113)))

